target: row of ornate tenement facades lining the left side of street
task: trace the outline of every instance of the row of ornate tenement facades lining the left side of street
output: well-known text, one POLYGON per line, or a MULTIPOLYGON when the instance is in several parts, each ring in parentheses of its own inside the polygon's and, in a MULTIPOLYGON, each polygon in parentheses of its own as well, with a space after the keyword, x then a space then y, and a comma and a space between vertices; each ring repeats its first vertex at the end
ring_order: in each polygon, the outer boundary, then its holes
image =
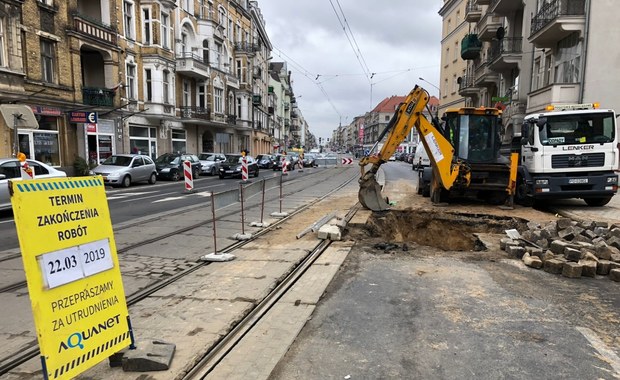
POLYGON ((114 153, 271 152, 264 25, 248 0, 2 1, 0 102, 38 126, 0 118, 0 156, 14 136, 69 174, 114 153))

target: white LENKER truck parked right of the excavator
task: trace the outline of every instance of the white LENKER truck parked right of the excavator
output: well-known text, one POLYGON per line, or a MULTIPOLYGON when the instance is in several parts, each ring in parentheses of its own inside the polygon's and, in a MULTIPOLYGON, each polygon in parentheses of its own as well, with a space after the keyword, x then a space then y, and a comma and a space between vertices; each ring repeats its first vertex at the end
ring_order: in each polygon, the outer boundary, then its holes
POLYGON ((515 201, 581 198, 606 205, 618 190, 616 113, 597 103, 548 106, 525 117, 515 201))

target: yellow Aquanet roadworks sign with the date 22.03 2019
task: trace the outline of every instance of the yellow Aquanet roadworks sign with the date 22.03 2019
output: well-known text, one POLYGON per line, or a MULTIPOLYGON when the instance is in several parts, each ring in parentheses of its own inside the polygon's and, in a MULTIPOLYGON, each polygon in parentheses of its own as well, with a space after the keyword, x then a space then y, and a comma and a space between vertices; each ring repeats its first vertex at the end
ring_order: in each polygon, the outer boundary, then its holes
POLYGON ((9 186, 43 372, 75 377, 132 340, 103 180, 9 186))

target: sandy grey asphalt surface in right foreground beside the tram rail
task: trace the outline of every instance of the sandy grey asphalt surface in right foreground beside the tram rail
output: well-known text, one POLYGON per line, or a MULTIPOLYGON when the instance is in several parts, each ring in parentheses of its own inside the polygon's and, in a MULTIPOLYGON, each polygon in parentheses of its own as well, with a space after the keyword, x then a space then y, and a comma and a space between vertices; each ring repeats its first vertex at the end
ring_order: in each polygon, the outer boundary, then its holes
MULTIPOLYGON (((405 169, 384 165, 386 187, 405 169)), ((383 237, 351 234, 355 247, 270 378, 620 377, 620 287, 607 277, 550 275, 501 251, 386 253, 374 248, 383 237)))

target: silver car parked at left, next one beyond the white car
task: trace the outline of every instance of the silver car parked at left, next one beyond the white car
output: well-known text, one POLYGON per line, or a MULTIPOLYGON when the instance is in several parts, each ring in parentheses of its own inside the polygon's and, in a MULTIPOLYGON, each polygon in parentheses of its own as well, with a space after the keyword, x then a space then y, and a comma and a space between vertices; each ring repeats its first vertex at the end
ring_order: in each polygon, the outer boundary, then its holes
POLYGON ((129 187, 132 183, 157 182, 157 169, 149 156, 143 154, 115 154, 92 170, 111 186, 129 187))

